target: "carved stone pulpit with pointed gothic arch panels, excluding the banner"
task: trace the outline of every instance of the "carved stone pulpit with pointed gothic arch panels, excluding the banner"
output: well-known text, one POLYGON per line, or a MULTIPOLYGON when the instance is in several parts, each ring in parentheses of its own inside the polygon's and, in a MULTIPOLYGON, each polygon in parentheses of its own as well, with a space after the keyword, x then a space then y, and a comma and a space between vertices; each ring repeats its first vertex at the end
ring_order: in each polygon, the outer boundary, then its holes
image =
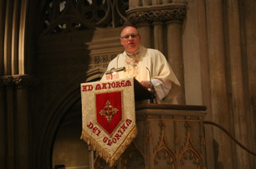
POLYGON ((138 104, 138 134, 118 164, 92 152, 91 168, 206 168, 205 116, 205 106, 138 104))

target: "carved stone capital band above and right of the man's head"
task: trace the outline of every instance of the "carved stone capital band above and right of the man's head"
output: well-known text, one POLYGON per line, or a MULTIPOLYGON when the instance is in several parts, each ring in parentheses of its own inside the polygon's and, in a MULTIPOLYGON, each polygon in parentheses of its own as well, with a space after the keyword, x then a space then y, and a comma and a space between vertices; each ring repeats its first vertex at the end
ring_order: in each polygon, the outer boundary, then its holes
POLYGON ((128 20, 136 25, 140 22, 166 22, 183 20, 186 16, 186 5, 154 5, 136 7, 126 11, 128 20))

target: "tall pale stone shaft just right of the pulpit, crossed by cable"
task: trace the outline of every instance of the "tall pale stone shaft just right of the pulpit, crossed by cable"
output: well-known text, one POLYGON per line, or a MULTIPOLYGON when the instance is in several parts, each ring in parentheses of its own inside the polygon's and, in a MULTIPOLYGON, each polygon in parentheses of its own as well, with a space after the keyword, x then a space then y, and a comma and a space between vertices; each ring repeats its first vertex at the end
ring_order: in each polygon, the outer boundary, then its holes
MULTIPOLYGON (((209 74, 213 122, 230 131, 227 98, 225 42, 223 29, 223 1, 206 1, 209 74)), ((216 168, 234 168, 230 138, 220 129, 213 128, 216 168)))

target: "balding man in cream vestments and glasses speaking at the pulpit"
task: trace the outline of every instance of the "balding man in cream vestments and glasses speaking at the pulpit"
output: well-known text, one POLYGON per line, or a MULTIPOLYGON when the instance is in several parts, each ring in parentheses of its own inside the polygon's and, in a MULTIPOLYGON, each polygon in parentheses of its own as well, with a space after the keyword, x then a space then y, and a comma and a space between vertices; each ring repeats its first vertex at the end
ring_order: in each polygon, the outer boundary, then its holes
POLYGON ((125 51, 109 63, 107 71, 113 67, 126 67, 126 71, 119 71, 113 76, 104 74, 101 81, 134 77, 149 89, 151 78, 157 102, 177 104, 175 95, 180 85, 170 64, 160 51, 143 47, 140 40, 141 36, 135 27, 126 26, 123 29, 120 42, 125 51))

